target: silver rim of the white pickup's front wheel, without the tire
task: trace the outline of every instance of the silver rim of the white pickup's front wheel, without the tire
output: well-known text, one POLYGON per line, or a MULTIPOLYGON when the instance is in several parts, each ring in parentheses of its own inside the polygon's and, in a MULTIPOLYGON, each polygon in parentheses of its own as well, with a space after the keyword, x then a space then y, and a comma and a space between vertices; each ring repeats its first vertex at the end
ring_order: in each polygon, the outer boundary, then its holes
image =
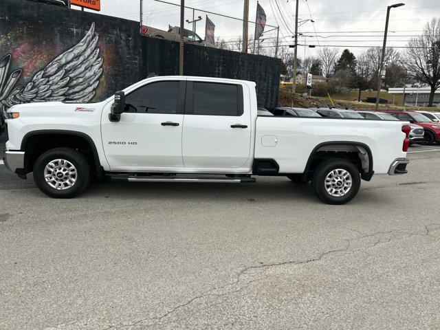
POLYGON ((54 159, 47 163, 44 178, 49 186, 56 190, 72 188, 78 179, 74 164, 66 159, 54 159))

